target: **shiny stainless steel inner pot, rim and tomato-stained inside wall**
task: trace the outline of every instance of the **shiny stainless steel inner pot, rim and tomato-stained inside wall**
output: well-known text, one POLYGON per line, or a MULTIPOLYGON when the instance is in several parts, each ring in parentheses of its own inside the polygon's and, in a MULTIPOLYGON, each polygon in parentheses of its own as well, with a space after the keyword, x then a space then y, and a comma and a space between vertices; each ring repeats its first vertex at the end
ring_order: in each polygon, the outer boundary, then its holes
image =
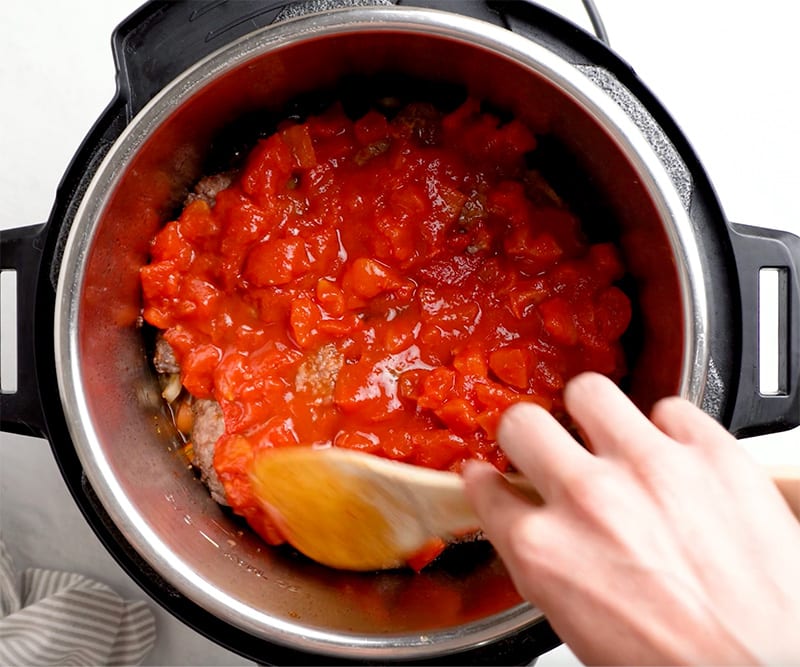
POLYGON ((685 202, 648 138, 589 77, 544 46, 450 13, 323 12, 254 32, 197 63, 128 125, 71 228, 55 313, 71 438, 100 502, 169 584, 258 637, 337 657, 433 657, 529 628, 490 549, 422 574, 350 574, 266 547, 224 513, 176 452, 141 331, 148 241, 201 175, 212 137, 343 75, 402 72, 462 84, 562 141, 604 193, 636 284, 630 393, 702 400, 703 265, 685 202))

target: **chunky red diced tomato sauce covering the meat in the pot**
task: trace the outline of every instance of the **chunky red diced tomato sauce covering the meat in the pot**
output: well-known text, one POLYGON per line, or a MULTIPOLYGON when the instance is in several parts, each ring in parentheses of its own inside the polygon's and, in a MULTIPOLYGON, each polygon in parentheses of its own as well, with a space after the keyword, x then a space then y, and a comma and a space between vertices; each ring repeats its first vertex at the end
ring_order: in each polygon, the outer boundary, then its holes
POLYGON ((259 141, 213 206, 153 239, 144 318, 188 392, 221 405, 215 468, 268 542, 247 475, 260 448, 505 470, 506 407, 560 416, 570 377, 624 375, 622 262, 527 170, 535 149, 473 99, 391 120, 333 107, 259 141))

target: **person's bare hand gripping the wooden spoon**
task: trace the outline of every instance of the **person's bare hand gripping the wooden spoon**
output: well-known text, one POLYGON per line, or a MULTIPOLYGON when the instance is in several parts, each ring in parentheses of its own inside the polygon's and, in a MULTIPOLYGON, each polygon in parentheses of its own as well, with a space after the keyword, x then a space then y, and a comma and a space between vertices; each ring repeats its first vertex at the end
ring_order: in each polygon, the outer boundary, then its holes
POLYGON ((544 505, 464 470, 520 594, 584 663, 800 664, 800 525, 733 436, 679 398, 648 420, 596 374, 564 398, 586 449, 529 403, 498 434, 544 505))

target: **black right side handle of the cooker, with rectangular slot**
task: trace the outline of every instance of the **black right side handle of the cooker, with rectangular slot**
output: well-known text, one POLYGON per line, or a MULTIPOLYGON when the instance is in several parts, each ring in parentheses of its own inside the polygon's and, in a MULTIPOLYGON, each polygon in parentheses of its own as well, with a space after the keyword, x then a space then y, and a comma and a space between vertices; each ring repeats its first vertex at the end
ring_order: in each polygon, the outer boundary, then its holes
POLYGON ((731 224, 741 296, 741 367, 730 431, 738 437, 776 433, 800 424, 800 237, 789 232, 731 224), (778 277, 778 387, 760 384, 762 269, 778 277))

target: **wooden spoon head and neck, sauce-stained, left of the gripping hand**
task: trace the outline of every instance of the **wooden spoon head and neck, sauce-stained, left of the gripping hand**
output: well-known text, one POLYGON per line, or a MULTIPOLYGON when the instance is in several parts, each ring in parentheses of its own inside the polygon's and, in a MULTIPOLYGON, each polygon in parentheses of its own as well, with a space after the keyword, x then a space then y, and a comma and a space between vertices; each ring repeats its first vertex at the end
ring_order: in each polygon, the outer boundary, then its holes
MULTIPOLYGON (((264 450, 251 479, 286 541, 339 569, 400 567, 434 540, 448 543, 480 529, 460 475, 354 450, 264 450)), ((526 480, 509 480, 541 502, 526 480)))

